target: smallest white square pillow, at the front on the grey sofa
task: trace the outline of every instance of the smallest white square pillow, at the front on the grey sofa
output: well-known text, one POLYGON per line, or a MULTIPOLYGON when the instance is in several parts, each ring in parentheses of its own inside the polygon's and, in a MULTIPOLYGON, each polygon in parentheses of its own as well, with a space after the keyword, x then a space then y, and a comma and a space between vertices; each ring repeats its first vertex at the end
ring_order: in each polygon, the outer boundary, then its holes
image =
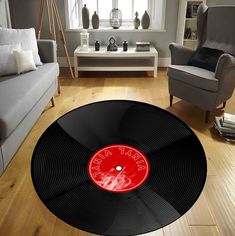
POLYGON ((18 74, 37 69, 31 50, 14 51, 13 53, 15 55, 18 74))

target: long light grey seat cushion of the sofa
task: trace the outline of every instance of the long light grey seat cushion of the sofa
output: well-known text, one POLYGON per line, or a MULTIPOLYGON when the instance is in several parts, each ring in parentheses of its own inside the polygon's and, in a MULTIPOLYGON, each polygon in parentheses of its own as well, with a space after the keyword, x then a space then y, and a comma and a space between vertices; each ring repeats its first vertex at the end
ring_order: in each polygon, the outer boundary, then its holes
POLYGON ((47 63, 36 71, 0 77, 0 139, 17 127, 58 74, 58 64, 47 63))

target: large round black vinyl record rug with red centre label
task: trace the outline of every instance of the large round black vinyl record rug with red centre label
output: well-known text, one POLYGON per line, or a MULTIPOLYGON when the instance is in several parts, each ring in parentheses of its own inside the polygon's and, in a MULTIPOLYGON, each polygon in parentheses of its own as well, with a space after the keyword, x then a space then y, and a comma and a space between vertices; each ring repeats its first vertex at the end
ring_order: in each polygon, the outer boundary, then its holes
POLYGON ((136 235, 186 213, 206 180, 203 147, 169 112, 102 101, 55 121, 32 158, 34 187, 68 224, 100 235, 136 235))

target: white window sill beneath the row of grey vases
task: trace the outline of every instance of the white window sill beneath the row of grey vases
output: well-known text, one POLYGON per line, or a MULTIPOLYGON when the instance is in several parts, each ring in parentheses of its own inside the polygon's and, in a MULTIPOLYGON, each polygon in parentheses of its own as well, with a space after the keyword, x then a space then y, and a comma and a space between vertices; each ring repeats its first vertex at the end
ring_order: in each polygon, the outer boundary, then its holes
MULTIPOLYGON (((82 32, 82 28, 77 29, 65 29, 66 32, 82 32)), ((119 28, 119 29, 113 29, 113 28, 99 28, 99 29, 88 29, 88 32, 159 32, 159 33, 165 33, 165 29, 131 29, 131 28, 119 28)))

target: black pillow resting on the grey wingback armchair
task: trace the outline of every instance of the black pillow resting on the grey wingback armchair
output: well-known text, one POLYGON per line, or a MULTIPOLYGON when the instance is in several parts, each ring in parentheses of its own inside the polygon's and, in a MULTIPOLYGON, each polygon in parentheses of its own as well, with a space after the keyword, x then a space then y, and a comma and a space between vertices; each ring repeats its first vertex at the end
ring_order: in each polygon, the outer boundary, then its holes
POLYGON ((188 65, 200 67, 215 72, 219 57, 224 52, 218 49, 200 47, 189 59, 188 65))

